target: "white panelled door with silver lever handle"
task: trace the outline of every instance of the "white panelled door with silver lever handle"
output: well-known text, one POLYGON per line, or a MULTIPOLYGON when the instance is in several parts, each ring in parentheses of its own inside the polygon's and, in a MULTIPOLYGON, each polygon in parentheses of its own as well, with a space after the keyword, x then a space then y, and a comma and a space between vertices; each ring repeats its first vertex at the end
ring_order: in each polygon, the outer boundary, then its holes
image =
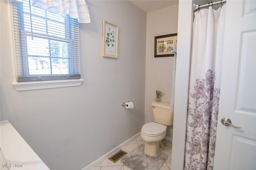
POLYGON ((214 170, 256 170, 256 0, 226 4, 214 170))

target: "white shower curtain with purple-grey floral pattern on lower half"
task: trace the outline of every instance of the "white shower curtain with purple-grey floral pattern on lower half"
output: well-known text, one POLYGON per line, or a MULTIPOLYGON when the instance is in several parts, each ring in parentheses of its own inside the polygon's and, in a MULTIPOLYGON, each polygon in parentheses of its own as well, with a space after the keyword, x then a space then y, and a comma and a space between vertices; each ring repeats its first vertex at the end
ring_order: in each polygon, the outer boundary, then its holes
POLYGON ((218 119, 225 9, 195 12, 185 170, 212 170, 218 119))

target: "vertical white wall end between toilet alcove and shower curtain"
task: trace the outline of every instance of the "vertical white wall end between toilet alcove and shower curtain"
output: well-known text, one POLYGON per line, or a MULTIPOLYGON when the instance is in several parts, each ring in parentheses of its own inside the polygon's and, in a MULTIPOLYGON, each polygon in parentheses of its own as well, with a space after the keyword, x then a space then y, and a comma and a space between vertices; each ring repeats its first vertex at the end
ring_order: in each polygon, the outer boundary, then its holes
POLYGON ((180 0, 178 12, 178 44, 174 96, 172 170, 184 169, 186 123, 188 111, 188 86, 193 25, 193 2, 180 0))

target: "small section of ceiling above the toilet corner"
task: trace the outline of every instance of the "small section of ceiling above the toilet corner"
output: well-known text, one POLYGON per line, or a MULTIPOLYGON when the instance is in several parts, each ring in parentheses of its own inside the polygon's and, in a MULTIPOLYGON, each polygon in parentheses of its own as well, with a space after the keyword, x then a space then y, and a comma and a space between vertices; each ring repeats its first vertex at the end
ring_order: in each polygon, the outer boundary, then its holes
POLYGON ((129 0, 145 12, 152 12, 178 4, 178 0, 129 0))

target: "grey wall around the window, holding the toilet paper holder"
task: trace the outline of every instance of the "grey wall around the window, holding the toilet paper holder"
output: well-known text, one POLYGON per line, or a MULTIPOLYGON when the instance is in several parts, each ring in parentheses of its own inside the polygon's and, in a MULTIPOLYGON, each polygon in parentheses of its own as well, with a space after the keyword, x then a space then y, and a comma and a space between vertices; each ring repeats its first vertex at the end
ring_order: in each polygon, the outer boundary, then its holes
POLYGON ((1 1, 1 118, 52 170, 84 168, 144 124, 146 13, 128 1, 87 0, 80 24, 81 86, 17 92, 10 18, 1 1), (2 16, 6 16, 3 18, 2 16), (102 20, 119 26, 118 59, 102 57, 102 20), (132 101, 134 109, 122 102, 132 101))

